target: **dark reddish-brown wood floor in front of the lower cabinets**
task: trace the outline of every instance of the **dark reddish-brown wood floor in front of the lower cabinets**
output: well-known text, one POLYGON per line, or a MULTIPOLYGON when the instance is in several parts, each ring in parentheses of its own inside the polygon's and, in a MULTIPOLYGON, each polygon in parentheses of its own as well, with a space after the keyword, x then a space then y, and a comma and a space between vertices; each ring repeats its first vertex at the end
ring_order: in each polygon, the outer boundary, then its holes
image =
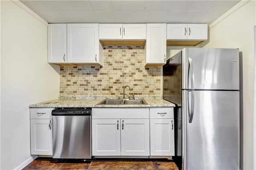
POLYGON ((37 158, 23 170, 178 170, 170 161, 70 161, 37 158))

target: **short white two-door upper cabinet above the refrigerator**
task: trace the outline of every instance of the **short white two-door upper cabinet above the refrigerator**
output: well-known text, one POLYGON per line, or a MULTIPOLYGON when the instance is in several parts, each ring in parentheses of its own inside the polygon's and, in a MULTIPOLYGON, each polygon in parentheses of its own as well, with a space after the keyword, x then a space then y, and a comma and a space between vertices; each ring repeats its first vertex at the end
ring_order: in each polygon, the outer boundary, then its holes
POLYGON ((207 40, 207 24, 167 24, 167 40, 207 40))

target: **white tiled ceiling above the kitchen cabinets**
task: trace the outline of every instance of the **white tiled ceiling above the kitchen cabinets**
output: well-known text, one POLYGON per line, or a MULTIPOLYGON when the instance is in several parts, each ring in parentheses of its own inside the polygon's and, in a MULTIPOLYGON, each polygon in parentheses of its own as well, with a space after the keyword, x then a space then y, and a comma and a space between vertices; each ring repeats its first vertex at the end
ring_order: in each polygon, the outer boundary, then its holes
POLYGON ((20 0, 48 23, 207 23, 240 0, 20 0))

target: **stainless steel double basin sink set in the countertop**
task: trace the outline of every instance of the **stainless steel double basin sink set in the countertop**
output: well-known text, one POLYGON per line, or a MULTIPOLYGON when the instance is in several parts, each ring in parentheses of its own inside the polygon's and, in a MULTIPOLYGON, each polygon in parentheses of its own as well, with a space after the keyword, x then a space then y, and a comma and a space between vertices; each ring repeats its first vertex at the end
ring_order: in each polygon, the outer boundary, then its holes
POLYGON ((120 105, 120 104, 148 104, 144 99, 121 100, 121 99, 105 99, 98 104, 104 105, 120 105))

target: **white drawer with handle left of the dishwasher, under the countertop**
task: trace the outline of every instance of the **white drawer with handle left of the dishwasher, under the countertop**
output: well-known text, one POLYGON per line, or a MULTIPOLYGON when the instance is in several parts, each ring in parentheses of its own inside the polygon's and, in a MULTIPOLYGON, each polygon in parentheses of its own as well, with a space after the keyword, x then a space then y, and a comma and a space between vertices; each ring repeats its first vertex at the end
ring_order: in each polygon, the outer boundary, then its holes
POLYGON ((30 119, 51 119, 53 108, 30 108, 30 119))

